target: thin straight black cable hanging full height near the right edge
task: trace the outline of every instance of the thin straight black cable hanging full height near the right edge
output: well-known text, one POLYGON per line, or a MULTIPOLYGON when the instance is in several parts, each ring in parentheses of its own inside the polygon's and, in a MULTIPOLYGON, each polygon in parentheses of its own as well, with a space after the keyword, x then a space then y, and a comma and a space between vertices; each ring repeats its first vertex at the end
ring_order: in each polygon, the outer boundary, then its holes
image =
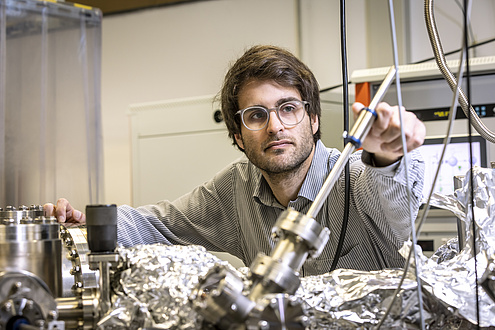
MULTIPOLYGON (((467 48, 468 44, 468 31, 467 31, 467 12, 468 12, 468 0, 464 0, 464 47, 467 48)), ((471 108, 471 74, 469 72, 469 52, 466 49, 466 88, 467 88, 467 100, 468 100, 468 109, 471 108)), ((469 211, 471 211, 471 221, 472 221, 472 229, 473 229, 473 257, 474 257, 474 282, 475 282, 475 290, 476 290, 476 320, 477 320, 477 329, 480 328, 480 304, 479 304, 479 288, 478 288, 478 262, 476 258, 477 249, 476 249, 476 221, 474 218, 474 180, 473 180, 473 145, 472 145, 472 128, 471 128, 471 121, 472 121, 472 113, 469 111, 469 116, 468 116, 468 141, 469 141, 469 186, 471 190, 471 208, 469 211)), ((469 212, 468 211, 468 212, 469 212)))

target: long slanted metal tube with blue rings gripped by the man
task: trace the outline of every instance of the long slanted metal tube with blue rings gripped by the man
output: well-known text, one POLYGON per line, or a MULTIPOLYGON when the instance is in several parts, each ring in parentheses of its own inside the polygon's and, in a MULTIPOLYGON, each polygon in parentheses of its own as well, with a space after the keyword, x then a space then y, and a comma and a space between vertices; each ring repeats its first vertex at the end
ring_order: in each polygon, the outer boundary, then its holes
MULTIPOLYGON (((371 109, 374 112, 374 109, 376 108, 378 103, 383 99, 383 96, 385 95, 388 88, 394 81, 394 78, 395 78, 395 67, 391 67, 387 75, 385 76, 385 79, 382 81, 380 88, 378 89, 375 96, 371 100, 368 109, 371 109)), ((364 140, 366 138, 366 135, 368 135, 371 129, 371 125, 373 124, 374 121, 375 121, 375 115, 371 111, 362 110, 361 113, 359 114, 358 119, 356 120, 356 123, 352 127, 349 136, 354 137, 355 141, 364 140)), ((330 193, 330 190, 333 188, 335 182, 339 178, 340 173, 344 169, 345 164, 349 160, 349 157, 354 152, 354 150, 356 150, 356 146, 353 143, 348 142, 344 150, 342 151, 341 155, 337 159, 337 162, 330 171, 330 174, 325 180, 325 183, 323 183, 323 186, 318 192, 318 195, 316 196, 313 204, 311 204, 308 213, 306 213, 308 217, 310 218, 316 217, 321 207, 323 206, 323 203, 325 202, 328 194, 330 193)))

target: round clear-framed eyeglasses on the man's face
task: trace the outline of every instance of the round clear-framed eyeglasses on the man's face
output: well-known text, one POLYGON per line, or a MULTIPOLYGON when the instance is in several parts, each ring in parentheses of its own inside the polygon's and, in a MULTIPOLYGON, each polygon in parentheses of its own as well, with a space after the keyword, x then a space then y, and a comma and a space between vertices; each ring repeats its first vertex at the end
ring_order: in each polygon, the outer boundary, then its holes
POLYGON ((285 126, 296 126, 303 120, 307 104, 309 102, 294 100, 282 103, 278 107, 271 109, 253 106, 237 111, 236 115, 241 115, 242 124, 251 131, 259 131, 265 128, 268 125, 270 112, 272 111, 277 113, 278 119, 285 126))

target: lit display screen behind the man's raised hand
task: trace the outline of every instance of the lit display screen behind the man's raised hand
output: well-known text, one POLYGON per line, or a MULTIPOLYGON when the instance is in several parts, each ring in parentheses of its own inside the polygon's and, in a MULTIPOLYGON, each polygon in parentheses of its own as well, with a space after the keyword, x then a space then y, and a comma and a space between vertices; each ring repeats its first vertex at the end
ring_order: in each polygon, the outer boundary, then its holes
MULTIPOLYGON (((480 136, 472 136, 472 163, 473 166, 486 167, 486 141, 480 136)), ((440 172, 435 183, 434 192, 442 195, 454 193, 454 176, 466 175, 470 168, 470 152, 467 136, 452 137, 450 144, 447 145, 443 157, 440 172)), ((425 161, 425 182, 423 196, 425 198, 430 194, 433 185, 433 179, 437 171, 440 157, 443 150, 443 139, 434 138, 426 139, 424 145, 419 148, 425 161)))

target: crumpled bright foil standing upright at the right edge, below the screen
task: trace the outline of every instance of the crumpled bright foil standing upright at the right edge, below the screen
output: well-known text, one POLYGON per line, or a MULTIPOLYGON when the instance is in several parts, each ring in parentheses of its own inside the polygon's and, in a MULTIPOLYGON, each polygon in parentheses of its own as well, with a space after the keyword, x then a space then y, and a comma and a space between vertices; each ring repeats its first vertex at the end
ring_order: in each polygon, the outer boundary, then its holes
MULTIPOLYGON (((477 324, 476 281, 487 268, 487 256, 495 252, 495 170, 473 169, 473 205, 476 225, 476 263, 473 257, 471 172, 465 176, 463 186, 454 195, 435 195, 433 206, 452 211, 466 223, 465 248, 457 253, 457 242, 449 241, 430 259, 419 263, 420 276, 425 287, 456 314, 477 324), (476 278, 476 274, 478 278, 476 278)), ((480 326, 495 326, 495 303, 479 287, 480 326)))

